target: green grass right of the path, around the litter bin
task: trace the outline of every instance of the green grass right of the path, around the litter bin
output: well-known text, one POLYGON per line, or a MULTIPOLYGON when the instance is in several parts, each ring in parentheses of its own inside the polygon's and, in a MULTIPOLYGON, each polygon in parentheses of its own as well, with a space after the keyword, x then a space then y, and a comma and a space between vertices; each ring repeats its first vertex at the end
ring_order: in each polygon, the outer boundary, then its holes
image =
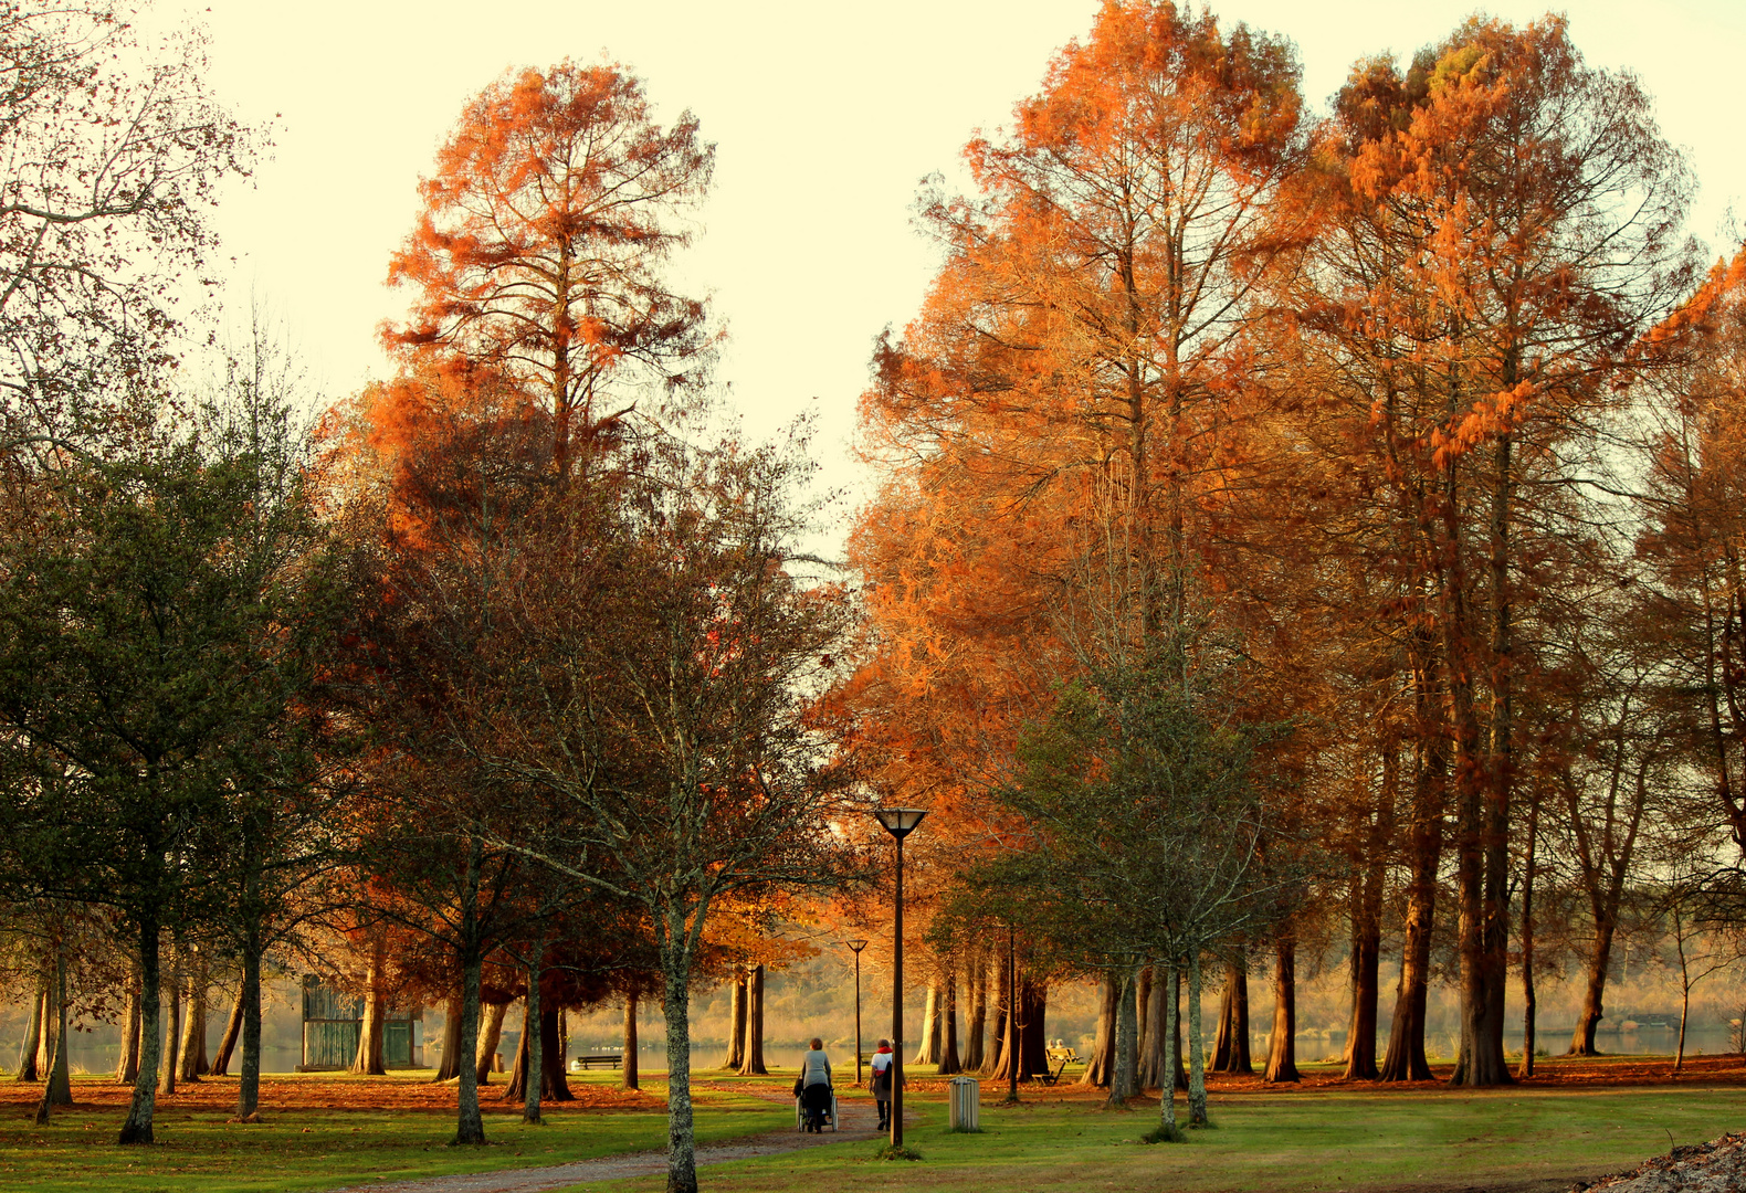
MULTIPOLYGON (((1636 1167, 1678 1142, 1709 1139, 1746 1120, 1746 1090, 1241 1095, 1213 1102, 1217 1130, 1184 1144, 1142 1144, 1158 1111, 1103 1111, 1084 1102, 983 1106, 983 1134, 946 1130, 943 1106, 924 1102, 904 1142, 922 1163, 873 1158, 868 1142, 707 1167, 712 1193, 880 1193, 1135 1190, 1226 1193, 1266 1190, 1566 1190, 1577 1177, 1636 1167)), ((644 1193, 655 1177, 576 1184, 566 1193, 644 1193)))

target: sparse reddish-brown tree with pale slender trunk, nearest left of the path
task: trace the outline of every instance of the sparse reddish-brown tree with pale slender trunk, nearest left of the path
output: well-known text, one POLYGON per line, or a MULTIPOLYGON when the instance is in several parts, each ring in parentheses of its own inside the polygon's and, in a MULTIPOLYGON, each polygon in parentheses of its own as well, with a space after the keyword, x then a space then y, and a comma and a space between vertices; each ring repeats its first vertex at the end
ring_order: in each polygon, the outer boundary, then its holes
POLYGON ((648 452, 602 515, 576 488, 529 562, 506 708, 482 764, 564 809, 557 841, 501 839, 639 907, 662 970, 667 1188, 697 1188, 688 1003, 709 917, 737 893, 828 890, 849 771, 807 692, 835 677, 849 607, 808 583, 793 447, 648 452), (602 631, 606 628, 606 631, 602 631))

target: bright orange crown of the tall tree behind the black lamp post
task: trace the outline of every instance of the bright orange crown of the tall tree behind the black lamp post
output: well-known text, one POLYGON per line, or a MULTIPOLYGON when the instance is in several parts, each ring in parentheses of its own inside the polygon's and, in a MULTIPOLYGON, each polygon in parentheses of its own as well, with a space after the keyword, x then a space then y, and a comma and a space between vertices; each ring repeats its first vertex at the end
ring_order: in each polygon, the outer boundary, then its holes
POLYGON ((863 399, 887 485, 850 544, 870 656, 843 696, 894 794, 962 813, 929 821, 953 865, 1006 830, 983 795, 1055 684, 1205 596, 1299 120, 1285 42, 1112 2, 969 143, 976 194, 924 195, 945 265, 863 399))

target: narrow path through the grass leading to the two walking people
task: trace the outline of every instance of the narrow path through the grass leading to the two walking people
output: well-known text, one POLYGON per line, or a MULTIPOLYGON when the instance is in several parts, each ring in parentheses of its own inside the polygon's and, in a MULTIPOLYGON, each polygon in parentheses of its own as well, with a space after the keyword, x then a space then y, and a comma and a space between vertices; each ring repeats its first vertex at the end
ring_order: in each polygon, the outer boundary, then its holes
MULTIPOLYGON (((756 1095, 765 1097, 763 1092, 756 1092, 756 1095)), ((793 1099, 779 1090, 770 1090, 768 1101, 793 1104, 793 1099)), ((726 1163, 728 1160, 779 1156, 784 1151, 800 1151, 801 1148, 817 1148, 819 1144, 878 1137, 878 1116, 871 1102, 856 1101, 838 1104, 838 1109, 843 1118, 842 1130, 826 1130, 812 1135, 789 1128, 735 1142, 700 1146, 697 1149, 697 1167, 726 1163)), ((904 1115, 903 1121, 908 1125, 910 1116, 904 1115)), ((634 1176, 660 1176, 663 1172, 667 1172, 665 1151, 632 1151, 622 1156, 601 1156, 599 1160, 578 1160, 574 1163, 555 1163, 541 1169, 466 1172, 416 1181, 370 1181, 367 1184, 347 1184, 332 1190, 332 1193, 540 1193, 541 1190, 562 1190, 581 1181, 616 1181, 634 1176)))

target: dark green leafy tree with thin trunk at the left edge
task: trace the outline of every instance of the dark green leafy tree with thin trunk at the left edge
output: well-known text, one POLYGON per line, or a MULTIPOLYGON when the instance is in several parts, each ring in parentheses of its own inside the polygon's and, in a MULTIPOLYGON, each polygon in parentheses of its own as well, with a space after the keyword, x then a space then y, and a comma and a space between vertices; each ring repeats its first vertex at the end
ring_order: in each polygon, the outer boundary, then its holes
POLYGON ((278 774, 316 654, 318 535, 297 501, 269 499, 281 480, 220 427, 12 474, 31 501, 7 502, 3 816, 33 844, 38 893, 108 907, 134 937, 143 1048, 122 1142, 152 1139, 162 933, 210 917, 225 849, 248 844, 225 837, 246 835, 236 799, 278 774))

